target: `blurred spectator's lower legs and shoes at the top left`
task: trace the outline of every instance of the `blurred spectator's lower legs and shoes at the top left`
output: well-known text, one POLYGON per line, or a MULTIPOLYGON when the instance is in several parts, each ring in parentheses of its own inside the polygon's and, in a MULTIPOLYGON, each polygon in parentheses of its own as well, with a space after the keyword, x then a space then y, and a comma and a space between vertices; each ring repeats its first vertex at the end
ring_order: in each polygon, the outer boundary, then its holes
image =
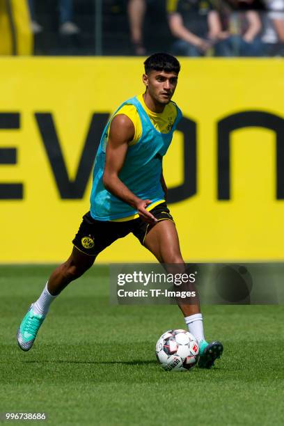
MULTIPOLYGON (((29 9, 31 13, 31 29, 33 33, 40 33, 42 26, 37 22, 35 12, 35 0, 29 0, 29 9)), ((73 36, 79 33, 79 27, 72 22, 73 19, 73 0, 58 0, 59 12, 59 32, 63 36, 73 36)))

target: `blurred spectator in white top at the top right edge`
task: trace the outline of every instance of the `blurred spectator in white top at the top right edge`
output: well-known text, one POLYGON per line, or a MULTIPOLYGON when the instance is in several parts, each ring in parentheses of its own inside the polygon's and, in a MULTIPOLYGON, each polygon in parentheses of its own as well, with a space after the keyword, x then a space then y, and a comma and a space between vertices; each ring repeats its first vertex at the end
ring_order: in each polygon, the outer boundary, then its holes
POLYGON ((267 56, 284 56, 284 0, 267 0, 262 42, 267 56))

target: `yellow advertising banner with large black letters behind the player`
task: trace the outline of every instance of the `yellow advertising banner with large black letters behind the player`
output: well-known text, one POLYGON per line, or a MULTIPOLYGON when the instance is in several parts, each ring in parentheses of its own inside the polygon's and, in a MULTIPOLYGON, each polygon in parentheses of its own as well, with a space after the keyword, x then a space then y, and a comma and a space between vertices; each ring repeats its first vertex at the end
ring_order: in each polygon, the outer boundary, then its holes
MULTIPOLYGON (((164 159, 187 261, 283 260, 284 61, 181 58, 164 159)), ((88 211, 100 134, 143 92, 141 58, 0 60, 0 262, 60 262, 88 211)), ((153 257, 133 235, 100 262, 153 257)))

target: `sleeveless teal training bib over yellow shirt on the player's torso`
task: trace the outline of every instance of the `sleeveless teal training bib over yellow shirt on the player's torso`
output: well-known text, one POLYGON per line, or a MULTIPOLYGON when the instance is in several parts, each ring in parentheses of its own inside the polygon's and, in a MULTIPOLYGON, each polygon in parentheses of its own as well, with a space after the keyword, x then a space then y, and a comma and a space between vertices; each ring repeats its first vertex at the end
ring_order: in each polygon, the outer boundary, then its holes
POLYGON ((162 158, 173 139, 173 132, 182 118, 182 113, 174 102, 170 102, 165 108, 166 112, 161 114, 147 110, 142 95, 132 97, 118 107, 104 128, 95 158, 93 187, 90 194, 90 214, 93 219, 114 221, 138 217, 137 210, 113 196, 102 182, 109 126, 118 113, 130 115, 135 127, 134 140, 129 143, 125 162, 118 178, 137 197, 152 200, 148 210, 164 200, 164 191, 160 182, 162 158), (156 120, 155 116, 158 116, 156 120), (165 132, 165 130, 168 131, 165 132))

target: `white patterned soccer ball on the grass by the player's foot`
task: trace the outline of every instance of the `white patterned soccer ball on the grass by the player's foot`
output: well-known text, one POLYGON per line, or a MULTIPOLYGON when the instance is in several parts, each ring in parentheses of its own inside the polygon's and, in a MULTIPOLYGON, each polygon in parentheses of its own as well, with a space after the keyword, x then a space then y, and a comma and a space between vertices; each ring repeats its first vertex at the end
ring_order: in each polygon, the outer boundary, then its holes
POLYGON ((198 362, 198 342, 189 331, 168 330, 157 341, 156 356, 166 371, 191 370, 198 362))

